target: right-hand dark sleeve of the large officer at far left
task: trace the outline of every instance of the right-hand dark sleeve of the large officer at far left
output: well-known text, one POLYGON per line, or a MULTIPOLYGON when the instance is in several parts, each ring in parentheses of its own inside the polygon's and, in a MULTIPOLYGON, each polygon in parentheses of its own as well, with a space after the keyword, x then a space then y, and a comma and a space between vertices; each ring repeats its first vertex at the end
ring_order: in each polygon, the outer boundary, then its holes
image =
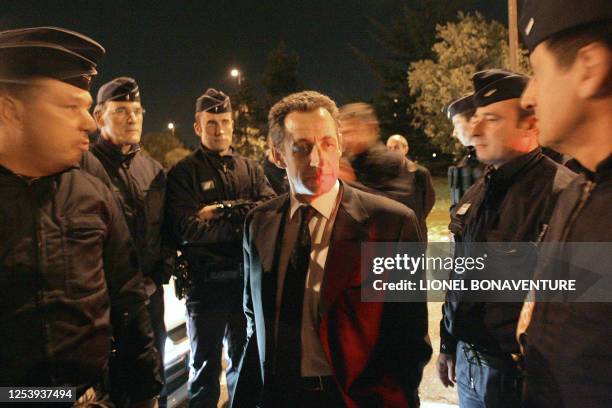
POLYGON ((102 194, 109 214, 104 272, 114 338, 111 390, 114 395, 128 393, 132 402, 138 402, 156 396, 161 390, 161 362, 153 342, 142 275, 129 230, 110 191, 102 194))

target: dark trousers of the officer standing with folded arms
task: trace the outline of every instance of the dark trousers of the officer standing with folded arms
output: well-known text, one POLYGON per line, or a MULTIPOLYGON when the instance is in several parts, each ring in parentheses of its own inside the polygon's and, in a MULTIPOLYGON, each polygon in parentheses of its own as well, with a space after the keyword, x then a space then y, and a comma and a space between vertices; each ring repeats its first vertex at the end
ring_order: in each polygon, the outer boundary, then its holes
POLYGON ((187 334, 191 343, 189 406, 216 408, 220 395, 221 353, 227 344, 227 389, 232 401, 246 342, 242 279, 203 283, 187 295, 187 334))

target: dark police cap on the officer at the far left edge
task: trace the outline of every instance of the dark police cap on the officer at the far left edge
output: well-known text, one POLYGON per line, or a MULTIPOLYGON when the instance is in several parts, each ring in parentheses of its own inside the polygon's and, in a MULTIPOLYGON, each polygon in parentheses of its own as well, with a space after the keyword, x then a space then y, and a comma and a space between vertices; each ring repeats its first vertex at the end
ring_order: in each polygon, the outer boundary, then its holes
POLYGON ((83 34, 57 27, 0 31, 0 82, 57 79, 89 90, 104 48, 83 34))

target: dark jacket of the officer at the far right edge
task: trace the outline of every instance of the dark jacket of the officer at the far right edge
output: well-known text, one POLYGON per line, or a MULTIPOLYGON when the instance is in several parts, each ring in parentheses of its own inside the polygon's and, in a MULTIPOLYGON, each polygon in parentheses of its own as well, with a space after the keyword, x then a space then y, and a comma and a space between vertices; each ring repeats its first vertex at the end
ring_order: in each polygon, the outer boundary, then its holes
MULTIPOLYGON (((544 241, 612 242, 611 210, 612 156, 561 194, 544 241)), ((601 255, 592 253, 593 259, 601 255)), ((537 279, 580 279, 585 273, 571 262, 564 268, 538 266, 537 279)), ((528 407, 610 406, 611 303, 536 303, 526 339, 528 407)))

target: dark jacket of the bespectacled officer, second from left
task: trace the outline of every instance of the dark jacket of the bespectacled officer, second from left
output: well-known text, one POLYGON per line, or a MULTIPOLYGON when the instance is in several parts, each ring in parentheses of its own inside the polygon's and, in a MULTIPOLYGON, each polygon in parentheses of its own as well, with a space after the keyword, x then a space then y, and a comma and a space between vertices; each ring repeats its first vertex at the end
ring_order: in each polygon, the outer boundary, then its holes
POLYGON ((138 146, 123 154, 112 143, 99 138, 91 152, 110 178, 136 245, 143 275, 157 286, 166 283, 169 275, 161 245, 166 191, 164 169, 138 146))

